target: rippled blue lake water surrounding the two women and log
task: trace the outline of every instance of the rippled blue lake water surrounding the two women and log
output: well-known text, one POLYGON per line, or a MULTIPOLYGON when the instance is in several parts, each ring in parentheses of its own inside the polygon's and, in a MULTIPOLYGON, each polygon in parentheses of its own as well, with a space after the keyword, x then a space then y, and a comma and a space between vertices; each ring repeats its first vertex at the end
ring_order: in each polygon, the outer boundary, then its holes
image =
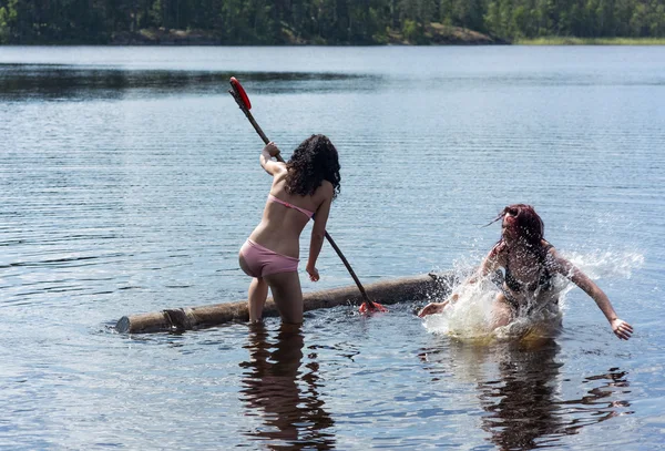
MULTIPOLYGON (((0 47, 0 136, 2 449, 665 449, 663 47, 0 47), (270 180, 231 75, 286 155, 337 145, 328 230, 364 283, 473 267, 530 203, 633 339, 579 288, 538 346, 408 299, 116 334, 246 298, 270 180)), ((328 245, 318 284, 304 263, 306 291, 352 285, 328 245)))

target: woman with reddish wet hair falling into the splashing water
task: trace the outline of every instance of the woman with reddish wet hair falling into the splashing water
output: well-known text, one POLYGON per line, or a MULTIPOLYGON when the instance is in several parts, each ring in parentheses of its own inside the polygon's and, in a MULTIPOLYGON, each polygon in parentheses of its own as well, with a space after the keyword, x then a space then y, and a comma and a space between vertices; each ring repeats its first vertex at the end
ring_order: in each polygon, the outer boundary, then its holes
MULTIPOLYGON (((480 277, 503 268, 503 283, 493 304, 493 327, 505 326, 519 316, 530 315, 533 308, 556 306, 559 296, 553 290, 552 278, 560 274, 595 300, 614 335, 624 340, 631 337, 633 327, 618 318, 607 295, 544 239, 543 221, 531 205, 509 205, 494 221, 499 219, 502 219, 501 239, 483 259, 478 273, 468 280, 473 284, 480 277)), ((443 303, 431 303, 418 316, 439 314, 456 300, 457 294, 443 303)))

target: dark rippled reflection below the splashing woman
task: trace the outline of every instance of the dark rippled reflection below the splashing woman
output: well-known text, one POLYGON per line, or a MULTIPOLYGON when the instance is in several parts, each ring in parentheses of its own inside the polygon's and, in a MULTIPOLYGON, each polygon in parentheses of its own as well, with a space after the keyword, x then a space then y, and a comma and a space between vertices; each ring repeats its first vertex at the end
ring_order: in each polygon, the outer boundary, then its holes
POLYGON ((485 412, 481 428, 500 450, 549 448, 586 426, 634 413, 626 410, 627 401, 617 399, 630 386, 618 368, 584 378, 582 383, 593 387, 581 398, 564 399, 562 385, 570 380, 561 375, 559 351, 553 339, 490 347, 451 341, 449 351, 428 349, 420 358, 434 380, 453 372, 475 381, 485 412), (488 378, 488 363, 498 379, 488 378))

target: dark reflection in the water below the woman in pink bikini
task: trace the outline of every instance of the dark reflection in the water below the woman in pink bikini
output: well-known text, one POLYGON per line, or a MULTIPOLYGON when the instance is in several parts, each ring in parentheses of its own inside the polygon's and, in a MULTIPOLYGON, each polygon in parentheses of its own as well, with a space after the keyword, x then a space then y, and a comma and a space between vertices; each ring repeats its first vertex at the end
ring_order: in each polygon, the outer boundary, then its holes
POLYGON ((300 327, 282 325, 275 340, 263 324, 249 327, 241 399, 246 416, 260 418, 263 424, 245 434, 270 449, 335 448, 335 435, 328 431, 335 422, 318 394, 316 355, 307 356, 310 361, 303 367, 303 347, 300 327))

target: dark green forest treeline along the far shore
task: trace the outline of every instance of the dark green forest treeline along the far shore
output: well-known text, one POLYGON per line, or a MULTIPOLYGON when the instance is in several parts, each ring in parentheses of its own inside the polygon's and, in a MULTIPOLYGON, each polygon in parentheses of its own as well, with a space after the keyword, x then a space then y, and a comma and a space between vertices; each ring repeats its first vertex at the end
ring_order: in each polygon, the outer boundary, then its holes
POLYGON ((665 0, 0 0, 0 43, 120 43, 178 31, 217 44, 663 38, 665 0), (432 27, 436 24, 437 27, 432 27))

